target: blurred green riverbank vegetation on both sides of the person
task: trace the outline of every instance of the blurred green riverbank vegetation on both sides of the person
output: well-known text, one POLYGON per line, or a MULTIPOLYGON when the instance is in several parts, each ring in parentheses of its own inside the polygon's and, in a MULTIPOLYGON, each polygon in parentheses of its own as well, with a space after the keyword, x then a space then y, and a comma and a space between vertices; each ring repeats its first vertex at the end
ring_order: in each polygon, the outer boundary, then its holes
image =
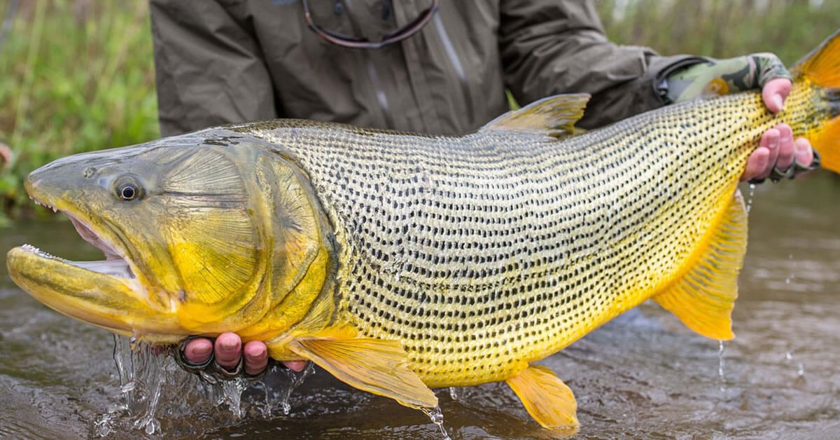
MULTIPOLYGON (((790 64, 840 28, 829 0, 596 3, 612 40, 666 55, 773 51, 790 64)), ((146 2, 5 0, 0 13, 2 218, 34 212, 22 181, 35 167, 158 129, 146 2)))

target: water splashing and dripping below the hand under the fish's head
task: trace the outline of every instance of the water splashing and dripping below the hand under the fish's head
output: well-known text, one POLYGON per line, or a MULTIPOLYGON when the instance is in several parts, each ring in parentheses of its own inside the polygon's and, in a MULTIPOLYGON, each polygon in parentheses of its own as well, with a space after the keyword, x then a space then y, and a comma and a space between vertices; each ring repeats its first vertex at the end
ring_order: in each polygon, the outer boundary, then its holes
POLYGON ((92 421, 91 437, 132 432, 195 437, 244 418, 288 415, 292 391, 314 374, 311 363, 300 373, 274 364, 266 372, 267 380, 221 380, 212 374, 204 374, 202 380, 178 366, 174 347, 155 346, 138 337, 114 337, 113 344, 118 403, 92 421))

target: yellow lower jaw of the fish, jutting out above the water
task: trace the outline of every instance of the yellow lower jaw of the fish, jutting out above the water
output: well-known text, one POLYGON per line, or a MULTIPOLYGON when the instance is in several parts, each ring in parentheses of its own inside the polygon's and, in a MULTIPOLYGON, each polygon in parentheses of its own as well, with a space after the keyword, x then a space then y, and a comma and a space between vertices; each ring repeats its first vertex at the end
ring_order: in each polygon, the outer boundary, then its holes
POLYGON ((6 264, 18 286, 64 315, 155 342, 176 342, 183 334, 174 315, 144 300, 143 285, 119 262, 102 265, 113 273, 97 272, 25 245, 9 251, 6 264))

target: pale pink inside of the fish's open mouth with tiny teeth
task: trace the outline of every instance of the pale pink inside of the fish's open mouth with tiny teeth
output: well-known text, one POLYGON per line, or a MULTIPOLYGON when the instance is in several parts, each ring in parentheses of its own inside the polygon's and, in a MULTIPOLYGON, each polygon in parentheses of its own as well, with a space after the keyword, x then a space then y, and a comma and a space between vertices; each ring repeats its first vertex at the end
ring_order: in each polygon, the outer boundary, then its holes
POLYGON ((71 223, 73 224, 73 227, 76 228, 76 232, 78 232, 82 240, 87 241, 88 243, 92 244, 93 247, 97 247, 97 249, 102 251, 102 253, 105 254, 105 259, 99 261, 77 262, 67 260, 61 257, 55 257, 54 255, 51 255, 47 252, 43 252, 38 247, 34 247, 29 244, 25 244, 24 246, 22 246, 22 249, 28 252, 33 252, 39 257, 45 257, 60 262, 65 262, 67 264, 76 266, 77 268, 86 269, 92 272, 103 273, 119 278, 136 278, 134 276, 134 272, 131 269, 129 261, 123 256, 122 252, 118 251, 118 247, 109 243, 108 240, 106 240, 105 238, 97 234, 95 231, 93 231, 91 227, 85 224, 84 221, 79 220, 78 218, 76 218, 76 216, 70 215, 65 211, 55 209, 55 207, 53 206, 39 202, 39 200, 37 199, 32 200, 35 204, 44 206, 47 209, 52 209, 53 212, 60 212, 61 214, 66 215, 67 218, 70 219, 71 223))

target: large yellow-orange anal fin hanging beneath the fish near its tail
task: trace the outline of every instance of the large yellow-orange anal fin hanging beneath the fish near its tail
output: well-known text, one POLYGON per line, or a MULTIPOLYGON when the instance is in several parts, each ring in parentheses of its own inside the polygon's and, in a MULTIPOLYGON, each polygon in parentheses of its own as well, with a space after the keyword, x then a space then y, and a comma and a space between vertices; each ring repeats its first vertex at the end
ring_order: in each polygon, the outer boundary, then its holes
POLYGON ((747 211, 741 193, 729 201, 706 251, 670 289, 654 300, 705 337, 728 340, 738 298, 738 271, 747 252, 747 211))

